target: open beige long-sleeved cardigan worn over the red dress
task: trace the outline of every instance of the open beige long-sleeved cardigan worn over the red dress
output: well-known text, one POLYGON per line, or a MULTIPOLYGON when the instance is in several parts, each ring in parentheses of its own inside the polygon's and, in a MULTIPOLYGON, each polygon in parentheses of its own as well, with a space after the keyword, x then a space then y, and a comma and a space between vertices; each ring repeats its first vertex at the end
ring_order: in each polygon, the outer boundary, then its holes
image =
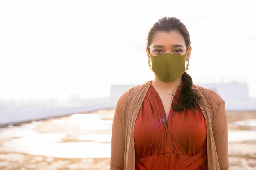
MULTIPOLYGON (((134 170, 133 129, 152 81, 132 87, 118 99, 112 125, 110 170, 134 170)), ((202 94, 200 108, 207 121, 207 166, 228 170, 228 127, 225 102, 215 91, 193 85, 202 94)), ((147 122, 145 122, 147 123, 147 122)))

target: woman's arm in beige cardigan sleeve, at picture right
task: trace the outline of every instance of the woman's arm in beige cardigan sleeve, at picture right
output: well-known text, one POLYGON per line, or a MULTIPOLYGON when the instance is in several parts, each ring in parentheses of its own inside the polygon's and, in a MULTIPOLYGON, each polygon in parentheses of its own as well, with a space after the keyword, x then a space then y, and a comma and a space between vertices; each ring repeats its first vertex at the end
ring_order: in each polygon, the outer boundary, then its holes
POLYGON ((212 128, 220 170, 228 170, 228 122, 224 101, 222 101, 218 106, 213 118, 212 128))

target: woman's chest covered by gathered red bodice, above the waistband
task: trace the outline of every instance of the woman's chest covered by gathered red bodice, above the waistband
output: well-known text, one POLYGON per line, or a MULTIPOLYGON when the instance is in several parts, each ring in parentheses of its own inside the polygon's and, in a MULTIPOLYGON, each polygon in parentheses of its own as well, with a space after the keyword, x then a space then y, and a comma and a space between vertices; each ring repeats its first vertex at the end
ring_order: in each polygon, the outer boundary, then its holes
POLYGON ((179 113, 173 111, 167 119, 168 123, 163 119, 164 107, 159 102, 159 96, 147 96, 134 126, 135 146, 141 157, 147 155, 143 151, 152 155, 180 150, 179 154, 195 155, 193 152, 199 151, 205 144, 206 121, 200 109, 185 109, 179 113))

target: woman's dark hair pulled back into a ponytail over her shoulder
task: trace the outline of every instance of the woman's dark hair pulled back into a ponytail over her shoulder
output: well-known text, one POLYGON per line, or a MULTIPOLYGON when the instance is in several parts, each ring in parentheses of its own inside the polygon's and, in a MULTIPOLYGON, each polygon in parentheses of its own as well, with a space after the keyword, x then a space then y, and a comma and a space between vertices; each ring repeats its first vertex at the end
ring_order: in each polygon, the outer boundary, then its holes
MULTIPOLYGON (((180 33, 186 43, 186 48, 190 46, 190 35, 186 26, 176 17, 163 17, 159 19, 155 24, 150 28, 147 36, 147 49, 150 51, 150 44, 154 37, 154 33, 157 31, 177 31, 180 33)), ((181 97, 178 97, 177 103, 172 104, 175 111, 182 111, 185 108, 189 109, 198 109, 199 100, 201 99, 201 94, 197 89, 193 88, 193 81, 191 76, 184 72, 182 74, 182 82, 184 84, 183 88, 180 91, 181 97)))

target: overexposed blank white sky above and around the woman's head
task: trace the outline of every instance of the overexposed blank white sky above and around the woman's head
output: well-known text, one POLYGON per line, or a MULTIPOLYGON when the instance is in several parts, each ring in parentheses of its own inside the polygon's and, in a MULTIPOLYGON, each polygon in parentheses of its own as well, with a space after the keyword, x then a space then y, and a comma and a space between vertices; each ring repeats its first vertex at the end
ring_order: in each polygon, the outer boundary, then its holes
POLYGON ((256 97, 255 4, 2 0, 0 100, 106 97, 111 84, 153 79, 146 36, 164 16, 180 18, 189 30, 194 83, 242 80, 256 97))

